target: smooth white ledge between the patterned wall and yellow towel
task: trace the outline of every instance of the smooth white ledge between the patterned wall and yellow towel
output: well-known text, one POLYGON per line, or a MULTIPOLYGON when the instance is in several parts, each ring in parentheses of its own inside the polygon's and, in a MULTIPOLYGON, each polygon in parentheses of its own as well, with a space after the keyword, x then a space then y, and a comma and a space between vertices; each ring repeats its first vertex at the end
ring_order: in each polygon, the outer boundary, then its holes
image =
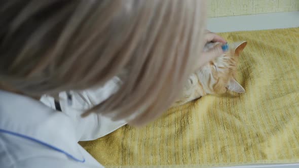
POLYGON ((231 32, 299 27, 299 11, 209 18, 207 29, 231 32))

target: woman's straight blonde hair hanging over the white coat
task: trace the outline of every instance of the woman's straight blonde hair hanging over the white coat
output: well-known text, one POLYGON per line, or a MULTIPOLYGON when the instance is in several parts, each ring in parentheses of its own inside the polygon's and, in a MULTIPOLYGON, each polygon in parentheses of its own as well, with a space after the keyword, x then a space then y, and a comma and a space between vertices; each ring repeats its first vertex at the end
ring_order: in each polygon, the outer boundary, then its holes
POLYGON ((0 81, 28 96, 103 85, 118 92, 89 112, 114 119, 166 110, 202 51, 200 0, 10 0, 0 3, 0 81), (123 72, 126 72, 123 75, 123 72))

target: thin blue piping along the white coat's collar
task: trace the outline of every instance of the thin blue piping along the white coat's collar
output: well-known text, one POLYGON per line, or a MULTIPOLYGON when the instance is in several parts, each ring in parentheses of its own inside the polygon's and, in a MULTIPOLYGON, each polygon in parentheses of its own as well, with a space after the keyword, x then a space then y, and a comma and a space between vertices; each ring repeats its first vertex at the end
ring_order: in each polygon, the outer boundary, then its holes
POLYGON ((17 136, 17 137, 21 137, 21 138, 24 138, 24 139, 27 139, 27 140, 30 140, 30 141, 39 143, 39 144, 44 145, 44 146, 46 146, 46 147, 49 147, 49 148, 51 148, 51 149, 53 149, 53 150, 56 150, 56 151, 58 151, 58 152, 61 152, 61 153, 65 154, 67 157, 69 157, 69 158, 71 158, 71 159, 73 159, 73 160, 75 160, 75 161, 82 162, 82 163, 85 162, 85 158, 83 158, 83 160, 77 159, 76 157, 74 157, 74 156, 72 156, 71 154, 69 154, 69 153, 63 151, 62 149, 59 149, 59 148, 57 148, 57 147, 55 147, 55 146, 52 146, 52 145, 50 145, 50 144, 47 144, 47 143, 45 143, 45 142, 43 142, 43 141, 40 141, 40 140, 38 140, 38 139, 35 139, 35 138, 32 138, 32 137, 28 137, 28 136, 23 135, 23 134, 19 134, 19 133, 15 133, 15 132, 11 132, 11 131, 7 131, 7 130, 3 130, 3 129, 0 129, 0 133, 6 133, 6 134, 14 135, 14 136, 17 136))

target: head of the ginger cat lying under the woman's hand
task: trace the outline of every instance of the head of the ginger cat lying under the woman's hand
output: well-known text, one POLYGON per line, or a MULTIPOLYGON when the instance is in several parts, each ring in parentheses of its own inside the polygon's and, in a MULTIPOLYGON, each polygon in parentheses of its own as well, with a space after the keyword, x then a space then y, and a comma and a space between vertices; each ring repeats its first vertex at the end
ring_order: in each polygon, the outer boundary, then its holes
POLYGON ((235 80, 235 75, 237 73, 238 57, 246 45, 247 41, 230 45, 228 53, 210 61, 196 72, 204 95, 223 94, 228 90, 237 93, 245 92, 243 87, 235 80))

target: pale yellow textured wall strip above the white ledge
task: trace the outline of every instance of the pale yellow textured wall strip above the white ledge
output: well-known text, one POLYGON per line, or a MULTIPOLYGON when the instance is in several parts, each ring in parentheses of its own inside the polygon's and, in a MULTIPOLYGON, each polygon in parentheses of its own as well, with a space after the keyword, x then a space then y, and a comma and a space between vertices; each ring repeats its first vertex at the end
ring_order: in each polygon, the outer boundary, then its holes
POLYGON ((208 0, 209 17, 299 11, 299 0, 208 0))

